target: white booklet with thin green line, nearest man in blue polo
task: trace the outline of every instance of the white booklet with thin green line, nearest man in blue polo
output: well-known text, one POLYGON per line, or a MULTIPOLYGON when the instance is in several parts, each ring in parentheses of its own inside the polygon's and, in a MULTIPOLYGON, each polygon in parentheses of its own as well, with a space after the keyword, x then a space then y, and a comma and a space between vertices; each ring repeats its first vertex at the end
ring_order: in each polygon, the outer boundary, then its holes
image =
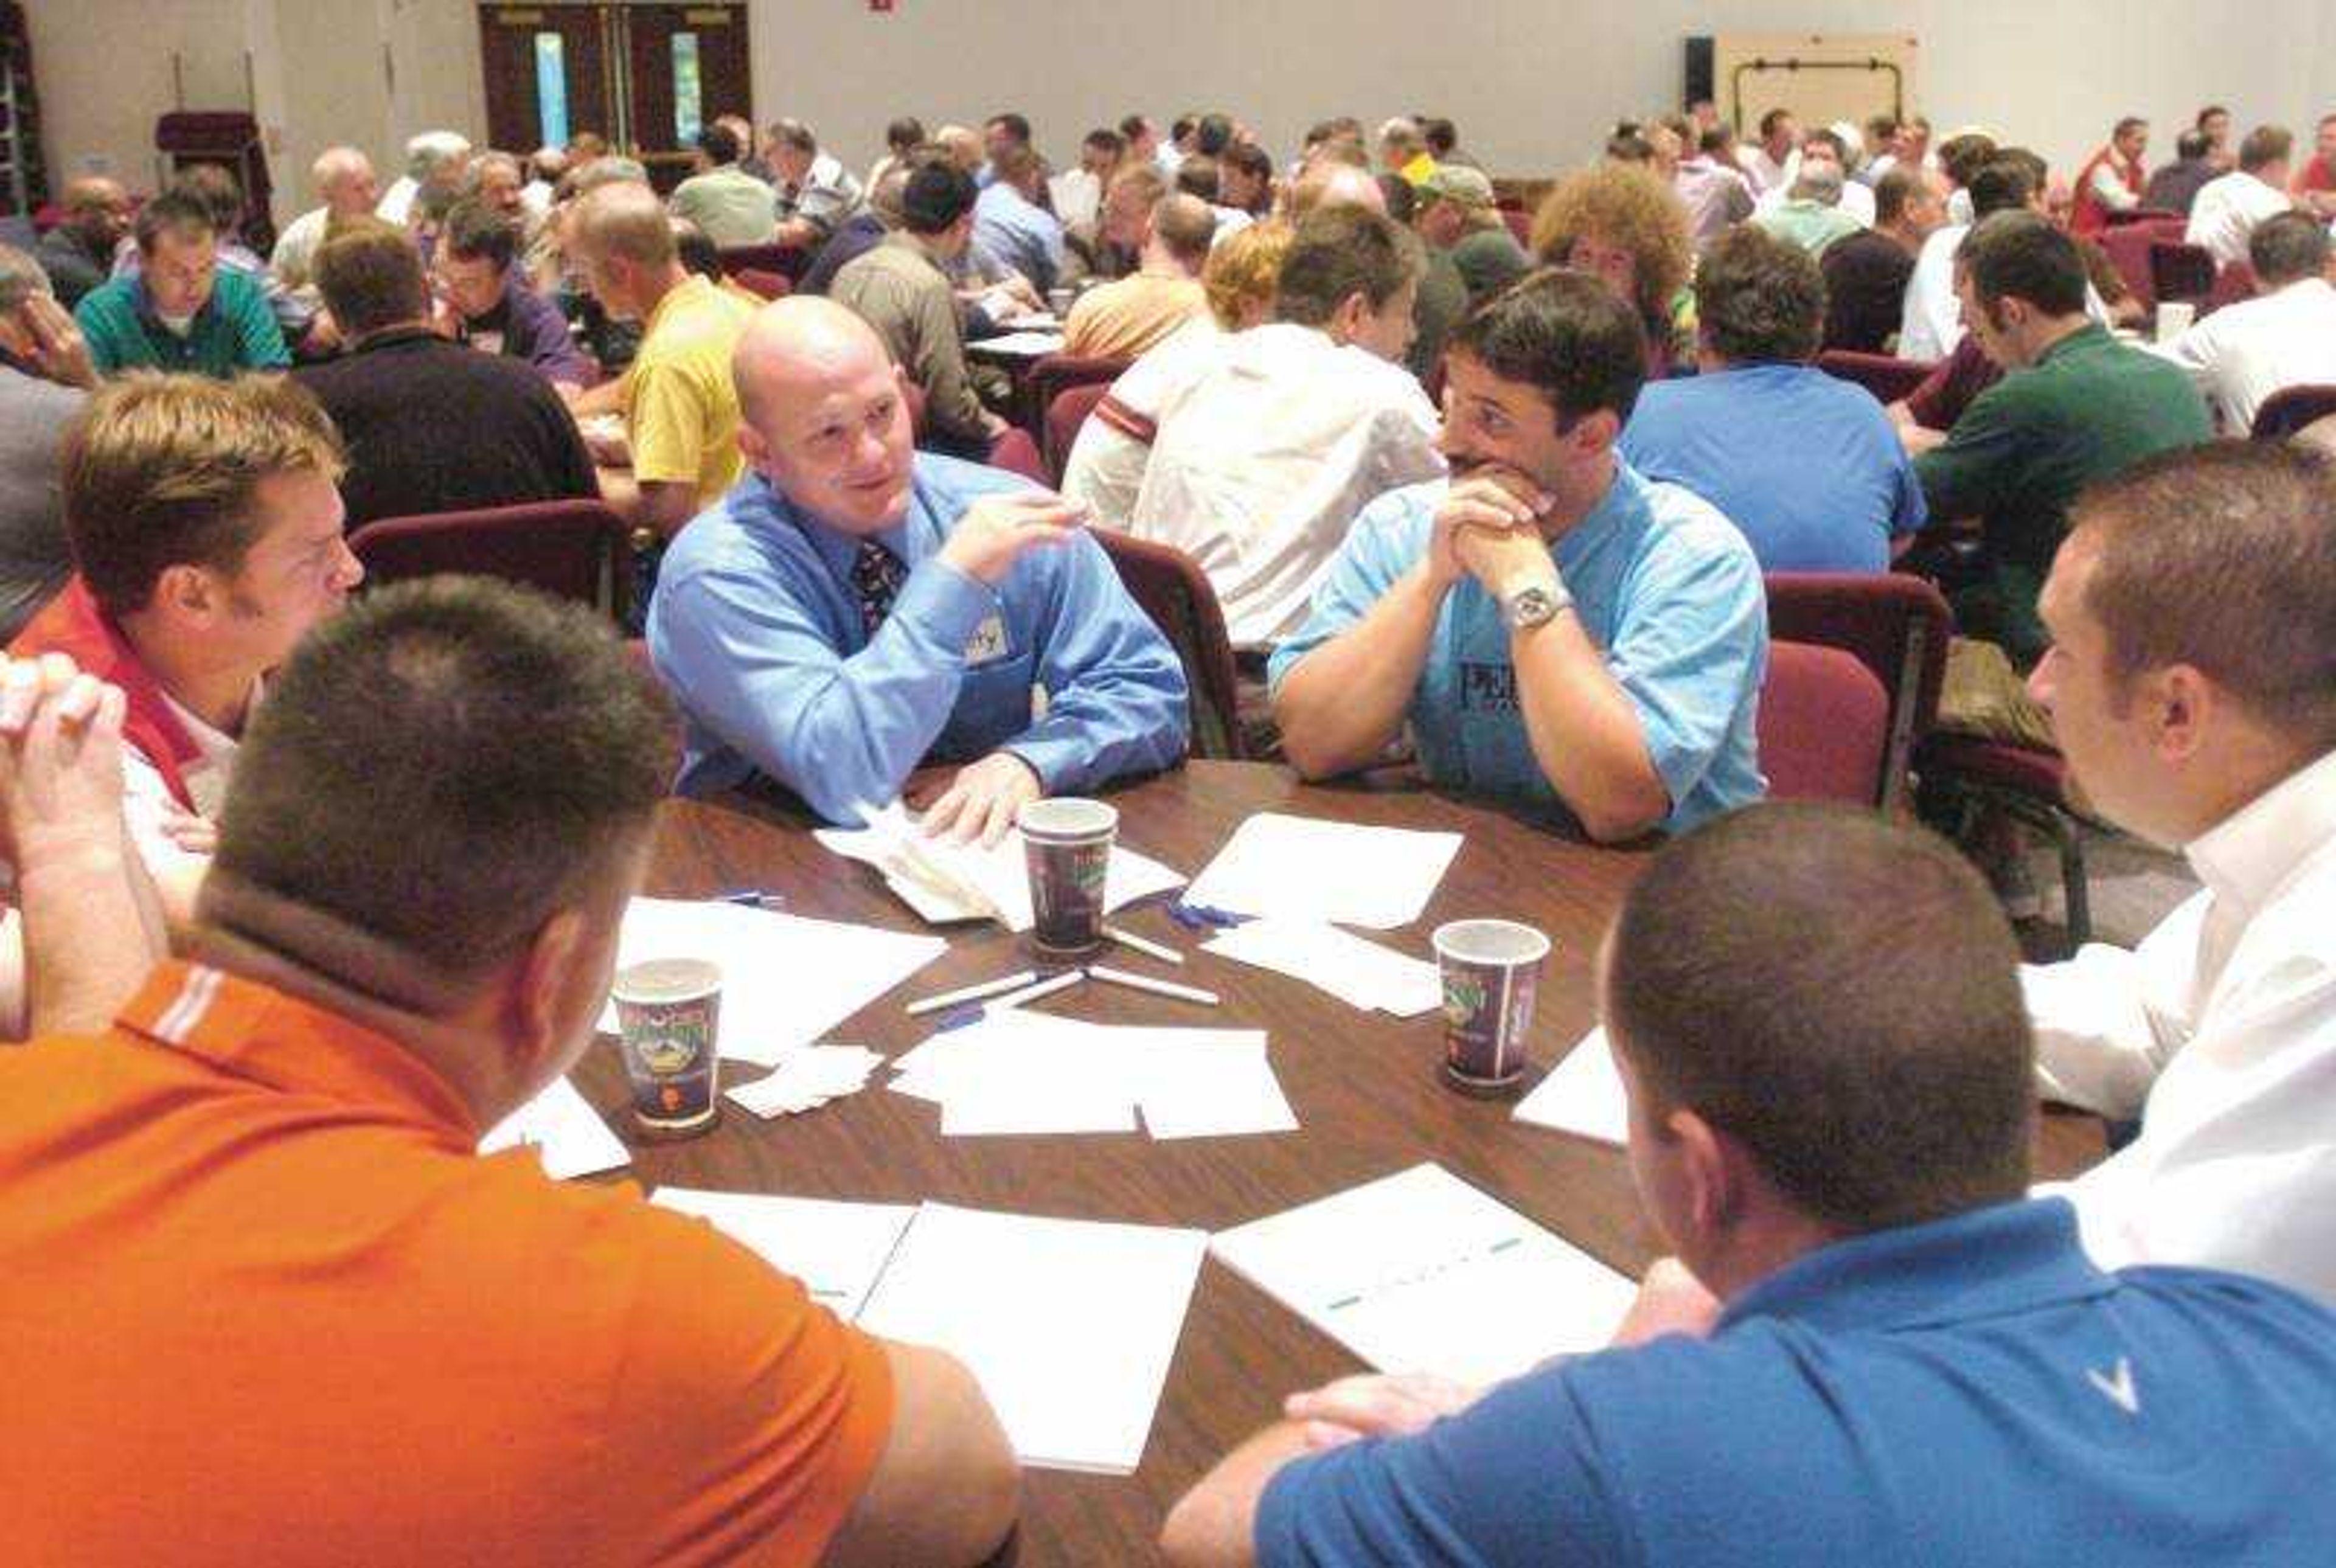
POLYGON ((1495 1383, 1614 1337, 1631 1281, 1441 1166, 1219 1231, 1212 1250, 1381 1372, 1495 1383))

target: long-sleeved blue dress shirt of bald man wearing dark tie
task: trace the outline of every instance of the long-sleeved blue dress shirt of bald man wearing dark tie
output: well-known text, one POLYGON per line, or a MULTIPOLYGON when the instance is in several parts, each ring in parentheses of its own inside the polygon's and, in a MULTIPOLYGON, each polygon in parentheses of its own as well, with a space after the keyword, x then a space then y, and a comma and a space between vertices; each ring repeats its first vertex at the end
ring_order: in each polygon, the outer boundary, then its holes
POLYGON ((762 474, 701 512, 649 601, 649 657, 687 717, 677 790, 764 773, 829 823, 857 823, 855 806, 890 802, 927 759, 1004 748, 1056 795, 1182 757, 1184 666, 1093 540, 1030 549, 995 589, 937 558, 976 498, 1028 488, 916 453, 909 512, 876 535, 909 580, 874 638, 855 535, 762 474))

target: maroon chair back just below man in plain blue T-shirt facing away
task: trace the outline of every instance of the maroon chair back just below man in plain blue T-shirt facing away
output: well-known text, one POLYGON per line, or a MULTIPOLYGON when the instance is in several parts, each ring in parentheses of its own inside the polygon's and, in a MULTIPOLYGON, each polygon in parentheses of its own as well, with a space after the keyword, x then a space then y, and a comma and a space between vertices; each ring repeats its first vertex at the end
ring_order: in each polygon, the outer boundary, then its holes
POLYGON ((1897 809, 1916 743, 1939 720, 1955 617, 1939 589, 1899 573, 1768 573, 1768 636, 1855 654, 1890 701, 1880 790, 1897 809))

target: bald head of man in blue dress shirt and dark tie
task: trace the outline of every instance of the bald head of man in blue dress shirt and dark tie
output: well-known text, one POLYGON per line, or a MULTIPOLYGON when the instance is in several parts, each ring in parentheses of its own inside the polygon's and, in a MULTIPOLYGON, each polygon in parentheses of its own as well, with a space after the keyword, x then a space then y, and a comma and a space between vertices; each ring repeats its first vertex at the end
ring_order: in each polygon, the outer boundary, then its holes
POLYGON ((731 374, 745 416, 738 449, 771 488, 860 537, 906 516, 916 432, 892 355, 864 320, 806 294, 766 304, 731 374))

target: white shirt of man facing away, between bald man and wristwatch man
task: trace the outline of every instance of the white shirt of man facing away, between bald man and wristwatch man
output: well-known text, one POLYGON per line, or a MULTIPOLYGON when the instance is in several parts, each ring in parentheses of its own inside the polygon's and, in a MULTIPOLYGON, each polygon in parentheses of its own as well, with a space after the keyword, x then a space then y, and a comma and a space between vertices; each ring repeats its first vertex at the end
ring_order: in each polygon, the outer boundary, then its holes
POLYGON ((1437 409, 1411 372, 1273 322, 1161 407, 1128 533, 1198 561, 1233 647, 1271 647, 1364 502, 1441 472, 1437 409))

